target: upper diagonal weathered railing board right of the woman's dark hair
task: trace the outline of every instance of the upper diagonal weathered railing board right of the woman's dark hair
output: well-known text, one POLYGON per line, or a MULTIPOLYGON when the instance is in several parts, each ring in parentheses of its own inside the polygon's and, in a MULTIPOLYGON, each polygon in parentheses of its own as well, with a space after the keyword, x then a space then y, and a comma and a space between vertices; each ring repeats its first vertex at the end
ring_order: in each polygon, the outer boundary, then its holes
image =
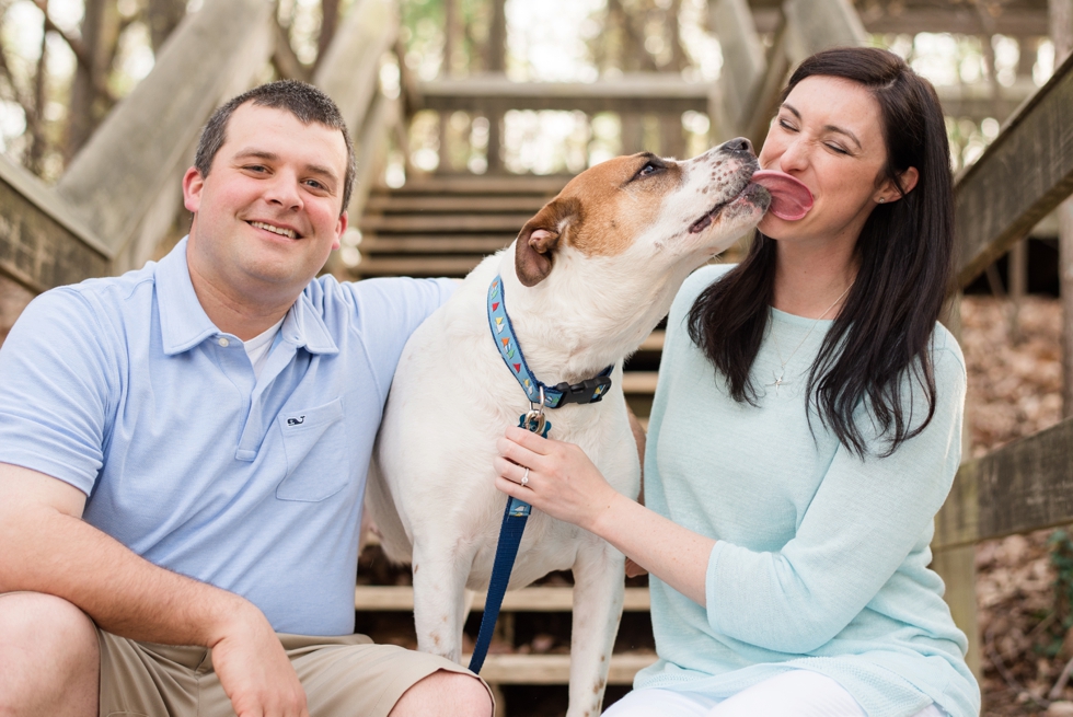
POLYGON ((957 182, 964 287, 1073 192, 1073 56, 957 182))

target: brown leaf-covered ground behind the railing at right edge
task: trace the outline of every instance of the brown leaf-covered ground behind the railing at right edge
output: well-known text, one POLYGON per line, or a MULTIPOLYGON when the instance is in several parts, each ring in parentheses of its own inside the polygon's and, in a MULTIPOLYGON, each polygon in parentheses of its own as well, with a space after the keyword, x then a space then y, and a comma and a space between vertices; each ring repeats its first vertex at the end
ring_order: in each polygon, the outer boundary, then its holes
MULTIPOLYGON (((1011 340, 1008 304, 970 297, 961 348, 969 373, 972 455, 1047 428, 1061 418, 1061 309, 1029 298, 1011 340)), ((1073 533, 1073 531, 1071 531, 1073 533)), ((983 636, 983 715, 1073 716, 1073 543, 1038 531, 977 547, 977 601, 983 636)))

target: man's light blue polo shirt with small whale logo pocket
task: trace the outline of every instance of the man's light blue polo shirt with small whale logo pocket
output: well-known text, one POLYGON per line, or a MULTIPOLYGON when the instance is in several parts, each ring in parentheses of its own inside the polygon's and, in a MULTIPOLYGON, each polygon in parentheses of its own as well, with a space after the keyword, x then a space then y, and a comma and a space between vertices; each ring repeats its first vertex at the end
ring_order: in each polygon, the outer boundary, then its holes
POLYGON ((312 281, 261 379, 160 263, 36 298, 0 349, 0 462, 89 496, 135 553, 256 604, 277 632, 354 632, 366 470, 411 333, 446 279, 312 281))

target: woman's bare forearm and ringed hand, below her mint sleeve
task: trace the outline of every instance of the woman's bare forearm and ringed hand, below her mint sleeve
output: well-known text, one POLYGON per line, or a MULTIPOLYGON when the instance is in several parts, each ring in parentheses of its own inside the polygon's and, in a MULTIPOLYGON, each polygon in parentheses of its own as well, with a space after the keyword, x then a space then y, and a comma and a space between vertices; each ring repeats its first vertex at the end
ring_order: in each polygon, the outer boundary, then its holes
POLYGON ((700 605, 715 541, 616 492, 573 443, 511 426, 499 439, 496 487, 552 518, 599 535, 700 605), (519 485, 529 467, 527 485, 519 485))

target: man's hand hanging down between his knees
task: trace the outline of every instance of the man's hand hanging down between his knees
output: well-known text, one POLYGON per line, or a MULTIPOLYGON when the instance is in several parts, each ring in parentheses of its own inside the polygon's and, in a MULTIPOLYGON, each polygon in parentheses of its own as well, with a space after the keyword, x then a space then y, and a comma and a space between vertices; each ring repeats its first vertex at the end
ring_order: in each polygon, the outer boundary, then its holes
POLYGON ((236 605, 212 648, 212 668, 238 717, 309 717, 305 691, 259 610, 236 605))

